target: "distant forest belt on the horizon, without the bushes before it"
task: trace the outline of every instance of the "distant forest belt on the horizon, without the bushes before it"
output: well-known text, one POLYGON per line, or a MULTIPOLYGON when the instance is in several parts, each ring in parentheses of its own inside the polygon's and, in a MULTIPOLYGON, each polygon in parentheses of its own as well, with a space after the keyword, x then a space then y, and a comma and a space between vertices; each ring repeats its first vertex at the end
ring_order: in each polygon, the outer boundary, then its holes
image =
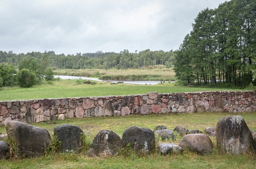
POLYGON ((141 67, 172 67, 175 53, 171 51, 135 51, 127 49, 120 53, 97 51, 96 53, 55 54, 54 51, 15 54, 13 51, 0 51, 0 62, 18 66, 24 58, 34 58, 45 62, 52 69, 140 69, 141 67))

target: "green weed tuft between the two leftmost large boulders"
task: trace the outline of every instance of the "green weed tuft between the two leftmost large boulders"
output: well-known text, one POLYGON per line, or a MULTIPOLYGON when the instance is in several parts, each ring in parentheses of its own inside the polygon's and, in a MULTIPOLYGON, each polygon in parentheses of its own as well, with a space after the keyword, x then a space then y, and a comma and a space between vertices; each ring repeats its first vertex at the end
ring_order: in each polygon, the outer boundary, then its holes
POLYGON ((62 142, 60 142, 57 138, 57 136, 53 135, 51 137, 51 141, 49 146, 47 147, 44 145, 44 154, 49 155, 49 154, 56 154, 60 152, 62 142))

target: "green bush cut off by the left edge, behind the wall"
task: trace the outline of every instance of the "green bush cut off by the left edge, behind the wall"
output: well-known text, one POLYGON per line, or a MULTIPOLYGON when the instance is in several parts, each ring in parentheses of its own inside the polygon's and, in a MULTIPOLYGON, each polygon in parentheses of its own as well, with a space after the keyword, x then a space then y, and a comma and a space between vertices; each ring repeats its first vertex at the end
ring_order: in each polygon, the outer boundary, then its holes
POLYGON ((17 85, 16 73, 17 71, 13 65, 0 64, 0 81, 2 81, 0 87, 17 85))

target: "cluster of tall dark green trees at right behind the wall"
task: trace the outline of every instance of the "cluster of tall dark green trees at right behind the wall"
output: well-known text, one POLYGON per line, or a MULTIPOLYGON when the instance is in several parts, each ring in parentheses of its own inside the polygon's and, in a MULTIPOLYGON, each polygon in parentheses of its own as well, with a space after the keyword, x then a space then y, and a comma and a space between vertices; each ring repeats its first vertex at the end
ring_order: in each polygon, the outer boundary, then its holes
POLYGON ((186 83, 246 86, 256 59, 256 1, 231 0, 202 10, 176 55, 176 77, 186 83))

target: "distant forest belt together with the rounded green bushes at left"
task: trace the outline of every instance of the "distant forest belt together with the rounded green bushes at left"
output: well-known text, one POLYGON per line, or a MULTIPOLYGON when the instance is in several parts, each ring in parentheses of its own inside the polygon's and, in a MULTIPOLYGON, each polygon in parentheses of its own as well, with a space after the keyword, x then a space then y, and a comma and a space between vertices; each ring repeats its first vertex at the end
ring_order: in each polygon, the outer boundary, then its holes
POLYGON ((43 80, 53 80, 53 69, 128 69, 142 67, 172 67, 175 52, 135 51, 124 49, 120 53, 55 54, 54 51, 15 54, 0 51, 0 87, 31 87, 43 80))

